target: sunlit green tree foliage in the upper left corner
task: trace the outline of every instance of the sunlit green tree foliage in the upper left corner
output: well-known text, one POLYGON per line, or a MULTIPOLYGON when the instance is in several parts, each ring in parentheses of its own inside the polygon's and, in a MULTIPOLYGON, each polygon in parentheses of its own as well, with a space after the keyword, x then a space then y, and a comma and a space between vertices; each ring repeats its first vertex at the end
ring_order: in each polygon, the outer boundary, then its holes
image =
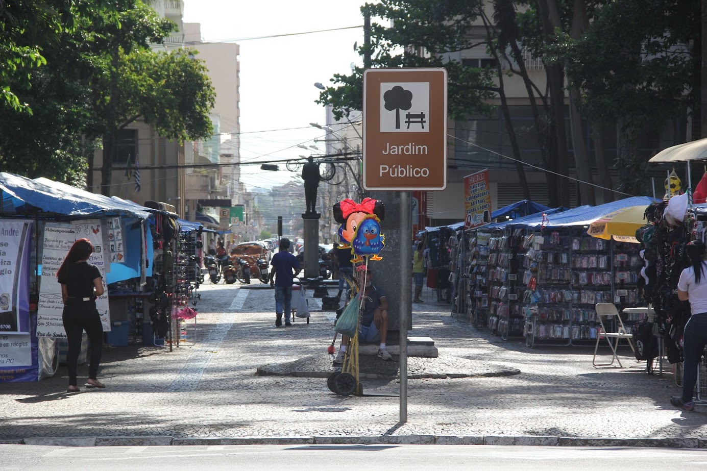
MULTIPOLYGON (((135 120, 173 139, 211 135, 215 95, 203 62, 186 50, 151 51, 150 45, 162 42, 175 25, 142 1, 9 4, 13 11, 4 10, 0 0, 0 21, 11 17, 13 23, 4 21, 0 28, 13 28, 16 37, 34 45, 42 66, 16 61, 13 73, 0 66, 0 89, 16 98, 0 96, 4 170, 82 182, 87 166, 93 165, 95 144, 103 139, 106 149, 115 131, 135 120), (46 16, 36 16, 37 11, 46 16), (21 30, 35 16, 40 21, 33 23, 34 39, 25 39, 21 30)), ((0 64, 12 60, 7 51, 17 44, 25 43, 0 36, 0 64)), ((110 165, 104 170, 110 182, 110 165)))

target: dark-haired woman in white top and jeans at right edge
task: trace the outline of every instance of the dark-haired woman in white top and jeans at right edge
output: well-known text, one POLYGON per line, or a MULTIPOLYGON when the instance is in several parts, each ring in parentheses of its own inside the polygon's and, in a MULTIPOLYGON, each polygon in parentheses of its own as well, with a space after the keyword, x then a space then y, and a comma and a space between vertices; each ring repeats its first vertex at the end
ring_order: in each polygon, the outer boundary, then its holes
POLYGON ((692 392, 697 381, 697 366, 707 344, 707 254, 700 240, 687 244, 686 252, 690 266, 680 274, 677 297, 680 301, 690 301, 691 316, 683 333, 682 396, 671 397, 670 404, 683 410, 693 410, 692 392))

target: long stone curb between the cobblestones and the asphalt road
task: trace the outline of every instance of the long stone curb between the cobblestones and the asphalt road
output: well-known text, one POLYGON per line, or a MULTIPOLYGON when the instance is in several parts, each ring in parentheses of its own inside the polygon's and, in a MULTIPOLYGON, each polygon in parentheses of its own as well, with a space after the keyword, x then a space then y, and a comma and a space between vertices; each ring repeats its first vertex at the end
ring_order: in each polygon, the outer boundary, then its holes
POLYGON ((271 436, 233 438, 173 438, 169 436, 0 438, 0 444, 35 446, 212 446, 212 445, 501 445, 621 448, 707 448, 701 438, 579 438, 561 436, 271 436))

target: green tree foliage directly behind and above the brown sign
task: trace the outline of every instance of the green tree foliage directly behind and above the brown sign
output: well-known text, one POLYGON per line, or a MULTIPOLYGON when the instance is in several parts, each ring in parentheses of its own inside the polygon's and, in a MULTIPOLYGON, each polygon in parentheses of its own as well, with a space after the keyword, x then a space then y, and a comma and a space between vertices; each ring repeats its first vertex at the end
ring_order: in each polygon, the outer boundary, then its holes
MULTIPOLYGON (((463 118, 489 112, 486 100, 493 96, 493 71, 462 66, 445 53, 468 49, 474 40, 466 34, 477 18, 479 0, 381 0, 361 7, 373 18, 392 21, 392 28, 373 22, 370 50, 371 67, 445 67, 448 72, 448 115, 463 118), (423 50, 424 54, 417 52, 423 50)), ((351 74, 336 74, 320 93, 317 103, 332 105, 337 119, 363 108, 363 68, 351 74)))

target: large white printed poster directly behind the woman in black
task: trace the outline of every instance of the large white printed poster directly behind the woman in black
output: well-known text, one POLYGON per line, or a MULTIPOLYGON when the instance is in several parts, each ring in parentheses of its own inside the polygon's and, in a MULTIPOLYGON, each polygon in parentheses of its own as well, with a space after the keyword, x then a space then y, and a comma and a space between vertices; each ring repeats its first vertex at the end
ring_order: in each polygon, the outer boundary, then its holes
MULTIPOLYGON (((96 308, 103 323, 103 331, 110 331, 110 313, 105 286, 106 253, 103 236, 105 224, 97 219, 76 221, 75 223, 47 223, 45 226, 44 250, 42 252, 42 279, 40 281, 40 299, 37 306, 37 337, 66 338, 62 313, 62 285, 57 281, 57 272, 62 266, 71 245, 77 239, 88 238, 94 252, 88 262, 95 264, 103 277, 103 296, 96 299, 96 308)), ((109 263, 110 264, 110 263, 109 263)))

